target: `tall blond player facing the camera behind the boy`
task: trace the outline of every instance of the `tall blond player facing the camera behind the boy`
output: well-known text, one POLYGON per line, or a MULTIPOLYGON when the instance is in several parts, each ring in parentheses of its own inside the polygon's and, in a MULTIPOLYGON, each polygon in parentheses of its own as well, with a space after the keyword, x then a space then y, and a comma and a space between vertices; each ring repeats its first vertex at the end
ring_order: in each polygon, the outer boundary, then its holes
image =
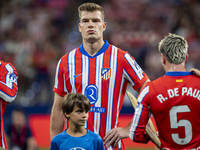
POLYGON ((63 96, 77 92, 91 102, 86 127, 101 138, 109 132, 111 136, 105 139, 118 143, 110 149, 125 149, 120 141, 124 132, 116 127, 126 88, 130 83, 139 92, 148 77, 128 52, 103 40, 106 23, 101 6, 94 3, 81 5, 79 18, 83 44, 64 55, 57 66, 51 139, 63 130, 65 118, 60 107, 63 96))

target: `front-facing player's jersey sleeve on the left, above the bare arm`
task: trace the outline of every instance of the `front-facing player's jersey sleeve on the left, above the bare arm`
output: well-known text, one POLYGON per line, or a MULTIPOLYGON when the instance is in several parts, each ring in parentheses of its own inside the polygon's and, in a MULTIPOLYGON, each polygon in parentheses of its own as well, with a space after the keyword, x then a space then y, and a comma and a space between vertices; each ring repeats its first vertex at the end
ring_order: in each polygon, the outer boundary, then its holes
POLYGON ((65 86, 64 65, 62 58, 57 64, 53 91, 60 96, 64 96, 66 93, 68 93, 65 86))

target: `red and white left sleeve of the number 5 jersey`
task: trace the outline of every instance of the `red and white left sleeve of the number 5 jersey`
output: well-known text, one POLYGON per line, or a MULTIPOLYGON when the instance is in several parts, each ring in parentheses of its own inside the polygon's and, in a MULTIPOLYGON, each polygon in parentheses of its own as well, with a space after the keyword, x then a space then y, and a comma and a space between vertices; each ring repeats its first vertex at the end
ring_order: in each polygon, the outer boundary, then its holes
POLYGON ((150 116, 150 109, 145 99, 148 98, 149 86, 145 86, 138 96, 138 103, 131 124, 129 137, 138 143, 148 143, 149 136, 145 132, 146 124, 150 116))

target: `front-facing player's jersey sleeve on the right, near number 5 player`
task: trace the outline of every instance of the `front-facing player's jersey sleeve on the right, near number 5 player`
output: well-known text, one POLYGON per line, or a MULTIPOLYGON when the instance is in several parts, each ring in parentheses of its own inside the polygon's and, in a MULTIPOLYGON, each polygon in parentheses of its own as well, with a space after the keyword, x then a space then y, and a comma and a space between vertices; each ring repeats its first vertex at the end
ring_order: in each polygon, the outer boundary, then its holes
POLYGON ((123 62, 125 78, 133 86, 134 90, 137 90, 149 78, 146 73, 144 73, 142 68, 138 65, 135 58, 132 57, 128 52, 124 53, 123 62))

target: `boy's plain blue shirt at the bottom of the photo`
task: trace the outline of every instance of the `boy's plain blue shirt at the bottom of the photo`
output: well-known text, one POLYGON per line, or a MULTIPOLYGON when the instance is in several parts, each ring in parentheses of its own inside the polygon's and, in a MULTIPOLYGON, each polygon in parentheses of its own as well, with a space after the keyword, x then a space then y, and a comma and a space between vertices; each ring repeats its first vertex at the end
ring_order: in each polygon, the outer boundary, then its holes
POLYGON ((101 137, 88 130, 81 137, 72 137, 66 130, 56 135, 52 141, 50 150, 105 150, 101 137))

